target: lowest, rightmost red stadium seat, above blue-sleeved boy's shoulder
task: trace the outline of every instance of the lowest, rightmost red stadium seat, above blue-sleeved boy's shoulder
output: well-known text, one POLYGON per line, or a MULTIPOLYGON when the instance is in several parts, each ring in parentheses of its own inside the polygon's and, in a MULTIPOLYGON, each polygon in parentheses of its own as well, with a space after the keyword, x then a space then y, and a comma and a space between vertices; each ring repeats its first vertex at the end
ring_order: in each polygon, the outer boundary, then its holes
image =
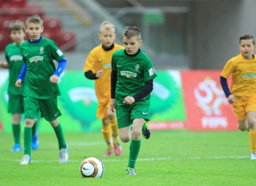
POLYGON ((73 51, 76 46, 76 35, 70 31, 60 31, 58 34, 58 46, 63 51, 73 51))

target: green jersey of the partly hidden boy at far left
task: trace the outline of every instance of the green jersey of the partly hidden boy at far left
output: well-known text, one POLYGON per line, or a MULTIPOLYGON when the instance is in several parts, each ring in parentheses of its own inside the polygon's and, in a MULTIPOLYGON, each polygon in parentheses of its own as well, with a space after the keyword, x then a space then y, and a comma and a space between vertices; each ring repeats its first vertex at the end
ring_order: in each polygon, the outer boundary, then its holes
POLYGON ((19 45, 15 43, 10 43, 5 48, 5 58, 9 63, 9 95, 22 95, 24 90, 24 84, 22 82, 22 87, 17 88, 15 83, 19 76, 19 73, 24 65, 23 57, 20 53, 19 45))

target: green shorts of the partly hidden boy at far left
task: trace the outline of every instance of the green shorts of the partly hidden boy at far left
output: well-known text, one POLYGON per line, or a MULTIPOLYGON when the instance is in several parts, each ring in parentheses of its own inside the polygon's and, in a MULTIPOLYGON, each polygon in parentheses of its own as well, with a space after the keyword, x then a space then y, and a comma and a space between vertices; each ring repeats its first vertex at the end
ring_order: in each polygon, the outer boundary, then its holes
POLYGON ((22 95, 9 95, 8 113, 24 113, 24 100, 22 95))

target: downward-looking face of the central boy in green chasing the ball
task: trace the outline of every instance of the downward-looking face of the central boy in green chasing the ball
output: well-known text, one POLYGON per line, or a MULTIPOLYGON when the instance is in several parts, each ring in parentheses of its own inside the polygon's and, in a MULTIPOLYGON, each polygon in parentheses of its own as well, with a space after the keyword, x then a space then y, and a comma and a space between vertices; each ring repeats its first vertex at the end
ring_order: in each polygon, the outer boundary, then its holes
POLYGON ((137 53, 139 50, 139 47, 142 44, 142 40, 138 40, 136 36, 133 36, 131 38, 124 36, 123 42, 125 46, 125 51, 129 55, 134 55, 135 53, 137 53))

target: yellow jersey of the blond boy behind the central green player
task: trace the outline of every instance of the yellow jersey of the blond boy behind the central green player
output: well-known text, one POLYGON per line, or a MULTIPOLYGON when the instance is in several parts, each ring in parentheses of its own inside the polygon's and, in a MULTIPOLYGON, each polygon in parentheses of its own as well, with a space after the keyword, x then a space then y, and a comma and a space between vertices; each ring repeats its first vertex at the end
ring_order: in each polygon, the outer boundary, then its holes
POLYGON ((112 54, 116 50, 124 49, 124 46, 114 43, 112 50, 106 51, 102 48, 102 44, 96 46, 88 55, 83 71, 97 71, 103 69, 103 74, 95 80, 95 91, 99 105, 105 105, 110 101, 110 80, 111 80, 111 60, 112 54))

